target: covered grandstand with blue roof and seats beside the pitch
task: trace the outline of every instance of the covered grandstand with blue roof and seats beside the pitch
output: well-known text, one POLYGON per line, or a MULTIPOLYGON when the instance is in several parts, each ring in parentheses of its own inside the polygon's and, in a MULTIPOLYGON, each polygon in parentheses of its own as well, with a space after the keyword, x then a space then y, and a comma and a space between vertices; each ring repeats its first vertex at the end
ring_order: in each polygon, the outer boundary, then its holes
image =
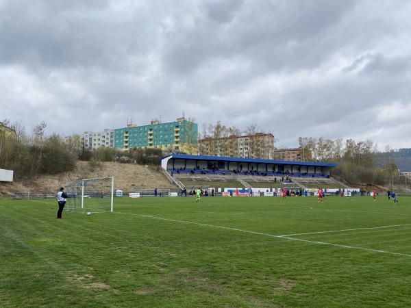
POLYGON ((329 176, 337 166, 329 163, 172 154, 162 158, 161 166, 180 188, 346 188, 329 176))

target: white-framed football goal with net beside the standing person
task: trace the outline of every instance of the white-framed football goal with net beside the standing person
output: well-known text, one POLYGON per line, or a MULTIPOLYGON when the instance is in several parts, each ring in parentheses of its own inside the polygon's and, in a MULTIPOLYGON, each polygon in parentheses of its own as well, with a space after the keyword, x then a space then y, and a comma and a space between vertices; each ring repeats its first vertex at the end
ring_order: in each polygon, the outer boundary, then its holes
POLYGON ((66 184, 66 211, 113 211, 114 177, 82 179, 66 184))

